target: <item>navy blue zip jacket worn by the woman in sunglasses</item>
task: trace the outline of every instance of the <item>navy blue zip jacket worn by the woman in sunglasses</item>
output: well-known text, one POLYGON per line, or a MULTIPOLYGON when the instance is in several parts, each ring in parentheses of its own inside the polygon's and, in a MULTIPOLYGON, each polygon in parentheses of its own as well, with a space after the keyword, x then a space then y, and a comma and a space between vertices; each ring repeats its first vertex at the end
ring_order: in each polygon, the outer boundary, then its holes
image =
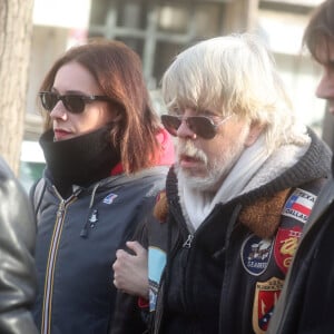
POLYGON ((38 212, 35 320, 42 334, 107 333, 116 288, 111 265, 151 209, 168 167, 108 177, 61 198, 48 178, 38 212))

